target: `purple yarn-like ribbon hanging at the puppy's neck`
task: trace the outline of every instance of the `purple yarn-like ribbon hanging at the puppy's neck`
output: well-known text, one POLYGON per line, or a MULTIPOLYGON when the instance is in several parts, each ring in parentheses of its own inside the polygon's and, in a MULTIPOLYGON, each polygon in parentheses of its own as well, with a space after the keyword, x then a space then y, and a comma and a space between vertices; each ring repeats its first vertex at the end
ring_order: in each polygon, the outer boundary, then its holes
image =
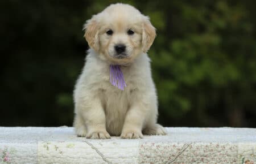
POLYGON ((123 72, 119 65, 110 65, 110 83, 118 89, 124 90, 126 87, 123 72))

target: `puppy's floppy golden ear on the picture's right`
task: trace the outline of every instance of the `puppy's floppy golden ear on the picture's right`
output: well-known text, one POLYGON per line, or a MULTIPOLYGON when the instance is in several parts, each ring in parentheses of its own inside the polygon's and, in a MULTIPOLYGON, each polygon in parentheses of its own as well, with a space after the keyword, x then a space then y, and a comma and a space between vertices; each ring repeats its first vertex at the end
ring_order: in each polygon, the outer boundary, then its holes
POLYGON ((145 16, 143 21, 143 31, 142 31, 142 50, 144 53, 150 49, 153 41, 155 40, 156 32, 153 25, 150 23, 150 20, 145 16))

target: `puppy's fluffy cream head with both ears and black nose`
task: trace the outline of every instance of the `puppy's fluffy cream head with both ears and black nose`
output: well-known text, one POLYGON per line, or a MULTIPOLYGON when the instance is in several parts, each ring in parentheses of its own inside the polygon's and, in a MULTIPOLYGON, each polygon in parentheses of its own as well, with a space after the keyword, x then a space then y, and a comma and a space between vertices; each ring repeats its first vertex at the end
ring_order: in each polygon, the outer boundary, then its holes
POLYGON ((146 53, 156 33, 147 16, 130 5, 117 3, 93 15, 84 25, 90 48, 112 63, 130 63, 146 53))

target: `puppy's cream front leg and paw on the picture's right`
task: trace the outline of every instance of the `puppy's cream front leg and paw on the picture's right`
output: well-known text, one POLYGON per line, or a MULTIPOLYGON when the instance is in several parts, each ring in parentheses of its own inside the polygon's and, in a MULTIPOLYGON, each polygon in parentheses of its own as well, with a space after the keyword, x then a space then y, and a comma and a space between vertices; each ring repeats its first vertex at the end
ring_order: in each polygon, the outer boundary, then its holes
POLYGON ((121 133, 122 139, 143 138, 142 126, 144 122, 144 113, 146 108, 143 105, 131 106, 126 114, 125 123, 121 133))

